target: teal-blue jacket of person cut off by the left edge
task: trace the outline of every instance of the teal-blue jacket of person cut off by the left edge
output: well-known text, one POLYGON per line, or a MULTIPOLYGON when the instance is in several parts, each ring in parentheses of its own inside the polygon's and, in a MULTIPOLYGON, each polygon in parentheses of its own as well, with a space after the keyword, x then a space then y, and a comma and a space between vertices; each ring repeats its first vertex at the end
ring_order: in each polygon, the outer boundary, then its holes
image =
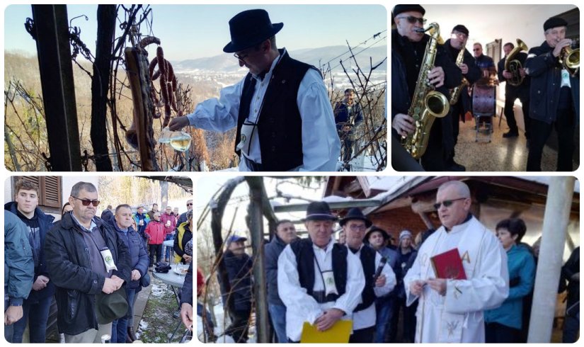
POLYGON ((22 305, 28 297, 34 270, 26 226, 16 215, 4 210, 4 295, 8 295, 10 304, 22 305))

